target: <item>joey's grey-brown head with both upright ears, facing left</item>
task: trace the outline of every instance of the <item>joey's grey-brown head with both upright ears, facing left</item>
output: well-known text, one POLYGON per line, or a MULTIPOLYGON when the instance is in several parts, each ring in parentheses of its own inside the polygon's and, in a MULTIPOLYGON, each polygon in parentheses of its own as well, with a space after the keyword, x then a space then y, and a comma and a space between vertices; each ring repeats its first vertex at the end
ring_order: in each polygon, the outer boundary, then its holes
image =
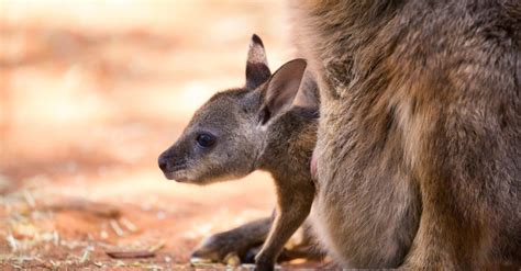
POLYGON ((244 177, 257 167, 267 126, 288 110, 306 69, 303 59, 271 75, 260 38, 252 37, 246 86, 214 94, 193 115, 182 135, 158 159, 165 177, 208 184, 244 177))

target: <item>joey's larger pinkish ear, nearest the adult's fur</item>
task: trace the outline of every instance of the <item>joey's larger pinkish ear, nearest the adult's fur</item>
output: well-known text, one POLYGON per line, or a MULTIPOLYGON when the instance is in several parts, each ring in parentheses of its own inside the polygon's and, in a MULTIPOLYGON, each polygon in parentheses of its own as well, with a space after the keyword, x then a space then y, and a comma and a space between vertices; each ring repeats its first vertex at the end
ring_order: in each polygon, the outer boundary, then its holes
POLYGON ((280 67, 269 79, 264 104, 262 108, 262 123, 265 124, 269 118, 284 112, 289 108, 297 95, 300 82, 306 70, 304 59, 293 59, 280 67))

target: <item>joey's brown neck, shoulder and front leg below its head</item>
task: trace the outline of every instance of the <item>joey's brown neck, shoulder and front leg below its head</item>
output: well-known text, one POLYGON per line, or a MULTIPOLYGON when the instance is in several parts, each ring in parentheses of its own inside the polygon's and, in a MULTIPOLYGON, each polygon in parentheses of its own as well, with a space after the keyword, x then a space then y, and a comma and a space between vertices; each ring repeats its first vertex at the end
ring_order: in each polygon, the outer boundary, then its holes
MULTIPOLYGON (((309 165, 317 140, 317 126, 318 110, 293 108, 268 127, 270 136, 258 168, 268 171, 275 181, 276 212, 280 215, 276 216, 278 221, 273 223, 266 242, 278 242, 280 248, 304 222, 313 203, 315 188, 309 165)), ((277 256, 268 255, 266 259, 257 260, 266 261, 263 269, 269 269, 277 256)))

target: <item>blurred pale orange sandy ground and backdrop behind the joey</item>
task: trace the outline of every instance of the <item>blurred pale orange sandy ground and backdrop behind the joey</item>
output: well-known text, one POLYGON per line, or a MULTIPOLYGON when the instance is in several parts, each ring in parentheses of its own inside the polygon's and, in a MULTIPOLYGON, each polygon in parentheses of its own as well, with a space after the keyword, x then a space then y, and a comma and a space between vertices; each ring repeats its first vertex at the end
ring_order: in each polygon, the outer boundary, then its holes
POLYGON ((266 173, 201 188, 156 160, 244 84, 253 33, 271 69, 290 58, 286 25, 277 0, 0 0, 0 268, 184 267, 269 215, 266 173))

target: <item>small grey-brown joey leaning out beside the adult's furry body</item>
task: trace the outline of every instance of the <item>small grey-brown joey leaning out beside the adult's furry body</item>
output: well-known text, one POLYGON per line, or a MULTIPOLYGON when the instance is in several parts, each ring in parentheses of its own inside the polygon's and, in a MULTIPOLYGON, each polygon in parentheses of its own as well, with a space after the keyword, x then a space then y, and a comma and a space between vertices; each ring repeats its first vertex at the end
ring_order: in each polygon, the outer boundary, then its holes
POLYGON ((310 159, 319 101, 317 89, 301 83, 306 66, 306 60, 295 59, 271 75, 263 43, 253 35, 246 86, 214 94, 158 159, 167 179, 200 185, 257 169, 271 173, 277 210, 256 257, 259 270, 274 269, 284 245, 308 216, 315 193, 310 159))

